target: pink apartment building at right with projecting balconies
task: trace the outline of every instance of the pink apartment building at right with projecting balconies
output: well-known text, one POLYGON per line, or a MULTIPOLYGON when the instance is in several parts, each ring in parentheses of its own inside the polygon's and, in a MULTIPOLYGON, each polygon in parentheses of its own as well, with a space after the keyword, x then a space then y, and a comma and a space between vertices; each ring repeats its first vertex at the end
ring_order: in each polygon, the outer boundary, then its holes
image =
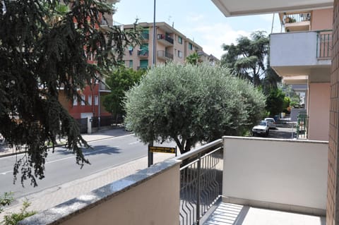
POLYGON ((279 13, 270 66, 287 84, 306 84, 309 140, 328 140, 333 7, 279 13))

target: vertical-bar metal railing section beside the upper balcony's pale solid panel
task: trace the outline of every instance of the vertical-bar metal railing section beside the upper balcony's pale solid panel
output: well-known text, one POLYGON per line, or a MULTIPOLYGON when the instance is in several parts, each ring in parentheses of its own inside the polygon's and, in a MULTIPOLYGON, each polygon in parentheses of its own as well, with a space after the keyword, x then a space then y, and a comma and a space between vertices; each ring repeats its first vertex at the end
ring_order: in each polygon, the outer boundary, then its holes
POLYGON ((316 32, 316 58, 328 59, 332 56, 332 30, 316 32))

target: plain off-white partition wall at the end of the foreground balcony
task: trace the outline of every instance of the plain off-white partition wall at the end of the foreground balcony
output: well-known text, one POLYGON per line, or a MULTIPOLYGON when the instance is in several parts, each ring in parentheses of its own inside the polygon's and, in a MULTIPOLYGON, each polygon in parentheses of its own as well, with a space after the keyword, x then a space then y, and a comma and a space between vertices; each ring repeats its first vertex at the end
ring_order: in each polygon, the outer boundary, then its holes
POLYGON ((328 142, 224 137, 224 197, 326 209, 328 142))

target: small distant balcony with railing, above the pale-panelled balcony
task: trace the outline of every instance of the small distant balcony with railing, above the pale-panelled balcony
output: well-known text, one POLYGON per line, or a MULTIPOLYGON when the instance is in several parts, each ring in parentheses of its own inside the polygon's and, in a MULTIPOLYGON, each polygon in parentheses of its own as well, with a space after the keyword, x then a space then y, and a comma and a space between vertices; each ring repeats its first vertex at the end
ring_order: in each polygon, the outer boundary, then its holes
POLYGON ((284 14, 283 25, 286 32, 308 31, 311 26, 311 12, 284 14))

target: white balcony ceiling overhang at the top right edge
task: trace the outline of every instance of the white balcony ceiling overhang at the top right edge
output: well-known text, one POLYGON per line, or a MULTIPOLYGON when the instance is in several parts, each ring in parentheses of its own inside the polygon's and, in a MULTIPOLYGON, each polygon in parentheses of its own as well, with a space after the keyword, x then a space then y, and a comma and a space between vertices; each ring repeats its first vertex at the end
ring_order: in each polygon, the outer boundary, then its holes
POLYGON ((333 7, 333 0, 212 0, 227 17, 333 7))

